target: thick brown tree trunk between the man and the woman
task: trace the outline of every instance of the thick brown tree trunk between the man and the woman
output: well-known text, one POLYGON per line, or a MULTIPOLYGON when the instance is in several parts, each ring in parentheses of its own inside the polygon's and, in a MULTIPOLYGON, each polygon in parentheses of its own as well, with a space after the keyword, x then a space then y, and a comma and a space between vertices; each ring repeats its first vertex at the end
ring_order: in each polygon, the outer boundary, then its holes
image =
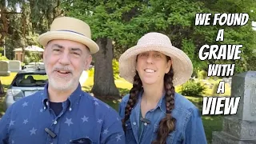
POLYGON ((112 67, 113 45, 109 38, 98 38, 98 53, 94 54, 94 86, 92 93, 96 97, 119 97, 114 84, 112 67))

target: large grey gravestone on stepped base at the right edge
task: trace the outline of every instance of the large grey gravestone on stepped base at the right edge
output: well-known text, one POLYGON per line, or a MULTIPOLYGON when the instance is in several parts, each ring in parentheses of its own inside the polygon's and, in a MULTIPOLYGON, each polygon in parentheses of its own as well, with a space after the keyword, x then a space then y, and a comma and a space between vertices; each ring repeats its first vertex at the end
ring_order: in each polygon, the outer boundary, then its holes
POLYGON ((225 116, 213 144, 256 144, 256 71, 234 75, 231 97, 241 97, 237 114, 225 116))

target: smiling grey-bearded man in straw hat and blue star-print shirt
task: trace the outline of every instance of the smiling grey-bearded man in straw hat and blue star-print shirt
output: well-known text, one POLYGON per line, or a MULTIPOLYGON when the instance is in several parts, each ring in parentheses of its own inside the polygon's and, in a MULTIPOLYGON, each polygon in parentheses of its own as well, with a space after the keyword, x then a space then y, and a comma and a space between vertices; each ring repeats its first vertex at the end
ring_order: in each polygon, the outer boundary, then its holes
POLYGON ((45 46, 45 89, 15 102, 0 120, 0 143, 125 143, 115 110, 82 91, 79 78, 98 51, 90 26, 56 18, 38 42, 45 46))

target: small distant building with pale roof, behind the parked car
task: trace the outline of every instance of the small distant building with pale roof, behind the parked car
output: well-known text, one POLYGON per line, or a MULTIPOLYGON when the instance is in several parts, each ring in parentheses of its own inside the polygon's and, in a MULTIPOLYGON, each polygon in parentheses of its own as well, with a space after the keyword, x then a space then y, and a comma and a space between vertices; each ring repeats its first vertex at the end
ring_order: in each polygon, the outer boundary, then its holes
MULTIPOLYGON (((39 53, 40 57, 42 57, 42 53, 44 51, 41 47, 38 47, 38 46, 27 46, 24 50, 29 51, 31 53, 39 53)), ((21 62, 24 61, 22 48, 14 49, 14 55, 15 55, 15 60, 18 60, 18 61, 21 61, 21 62)))

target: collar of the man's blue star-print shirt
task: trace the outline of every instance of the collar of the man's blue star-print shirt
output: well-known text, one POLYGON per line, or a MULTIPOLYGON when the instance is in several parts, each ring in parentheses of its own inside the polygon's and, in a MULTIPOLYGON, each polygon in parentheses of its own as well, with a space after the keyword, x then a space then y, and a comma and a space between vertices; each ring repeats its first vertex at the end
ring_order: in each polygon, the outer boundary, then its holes
MULTIPOLYGON (((49 83, 46 83, 46 86, 44 87, 44 90, 42 92, 42 106, 44 107, 44 110, 46 110, 46 107, 49 106, 49 94, 48 94, 48 86, 49 83)), ((74 90, 74 92, 72 94, 70 94, 70 97, 68 98, 67 102, 67 106, 70 106, 70 108, 74 105, 75 102, 78 101, 78 99, 80 99, 82 96, 82 87, 80 85, 80 83, 78 84, 78 87, 76 90, 74 90)))

